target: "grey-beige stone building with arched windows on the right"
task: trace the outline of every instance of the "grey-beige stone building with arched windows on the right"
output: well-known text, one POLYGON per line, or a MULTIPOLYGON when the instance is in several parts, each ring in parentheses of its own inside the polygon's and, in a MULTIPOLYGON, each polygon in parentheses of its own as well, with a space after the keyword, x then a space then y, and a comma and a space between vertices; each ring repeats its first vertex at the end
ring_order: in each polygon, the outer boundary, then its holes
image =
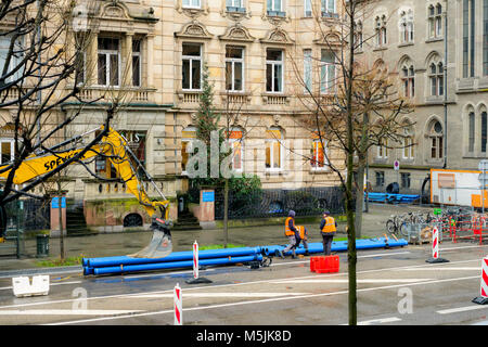
POLYGON ((415 108, 404 118, 410 142, 371 150, 373 190, 398 182, 421 193, 431 168, 477 169, 487 153, 488 1, 380 1, 362 21, 371 38, 362 54, 398 76, 415 108))

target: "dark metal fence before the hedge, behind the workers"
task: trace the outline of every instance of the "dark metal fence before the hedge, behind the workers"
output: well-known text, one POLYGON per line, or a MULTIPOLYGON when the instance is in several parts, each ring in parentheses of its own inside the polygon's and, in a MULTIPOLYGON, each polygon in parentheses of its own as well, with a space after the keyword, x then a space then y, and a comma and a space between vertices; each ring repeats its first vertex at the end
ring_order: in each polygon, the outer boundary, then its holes
MULTIPOLYGON (((344 193, 338 187, 306 188, 299 190, 261 190, 252 194, 229 192, 229 219, 287 216, 291 209, 297 216, 319 216, 324 209, 344 213, 344 193)), ((215 196, 215 218, 223 219, 223 191, 215 196)))

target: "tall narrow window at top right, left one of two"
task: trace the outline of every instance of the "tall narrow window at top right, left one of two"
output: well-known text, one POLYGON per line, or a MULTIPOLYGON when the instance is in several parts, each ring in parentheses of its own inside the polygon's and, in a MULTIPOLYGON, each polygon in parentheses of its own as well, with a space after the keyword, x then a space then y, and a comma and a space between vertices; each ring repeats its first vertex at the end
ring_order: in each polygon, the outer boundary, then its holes
POLYGON ((463 77, 474 77, 475 1, 463 0, 463 77))

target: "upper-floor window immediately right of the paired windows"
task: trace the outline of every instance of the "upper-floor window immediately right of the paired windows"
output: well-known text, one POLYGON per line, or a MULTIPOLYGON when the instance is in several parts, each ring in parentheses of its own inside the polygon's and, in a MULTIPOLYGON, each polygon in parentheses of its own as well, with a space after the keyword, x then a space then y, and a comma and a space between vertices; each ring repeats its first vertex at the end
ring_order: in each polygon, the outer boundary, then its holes
POLYGON ((183 90, 200 90, 202 86, 202 46, 183 43, 182 83, 183 90))

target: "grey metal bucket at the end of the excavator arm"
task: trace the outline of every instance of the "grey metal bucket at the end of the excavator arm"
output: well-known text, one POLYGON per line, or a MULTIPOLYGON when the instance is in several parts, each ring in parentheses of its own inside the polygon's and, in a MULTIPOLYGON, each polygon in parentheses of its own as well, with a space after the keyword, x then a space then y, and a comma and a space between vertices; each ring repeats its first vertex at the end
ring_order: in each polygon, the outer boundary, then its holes
POLYGON ((155 218, 151 224, 153 230, 153 237, 147 246, 143 249, 129 254, 132 258, 164 258, 171 254, 172 242, 169 226, 162 219, 155 218))

